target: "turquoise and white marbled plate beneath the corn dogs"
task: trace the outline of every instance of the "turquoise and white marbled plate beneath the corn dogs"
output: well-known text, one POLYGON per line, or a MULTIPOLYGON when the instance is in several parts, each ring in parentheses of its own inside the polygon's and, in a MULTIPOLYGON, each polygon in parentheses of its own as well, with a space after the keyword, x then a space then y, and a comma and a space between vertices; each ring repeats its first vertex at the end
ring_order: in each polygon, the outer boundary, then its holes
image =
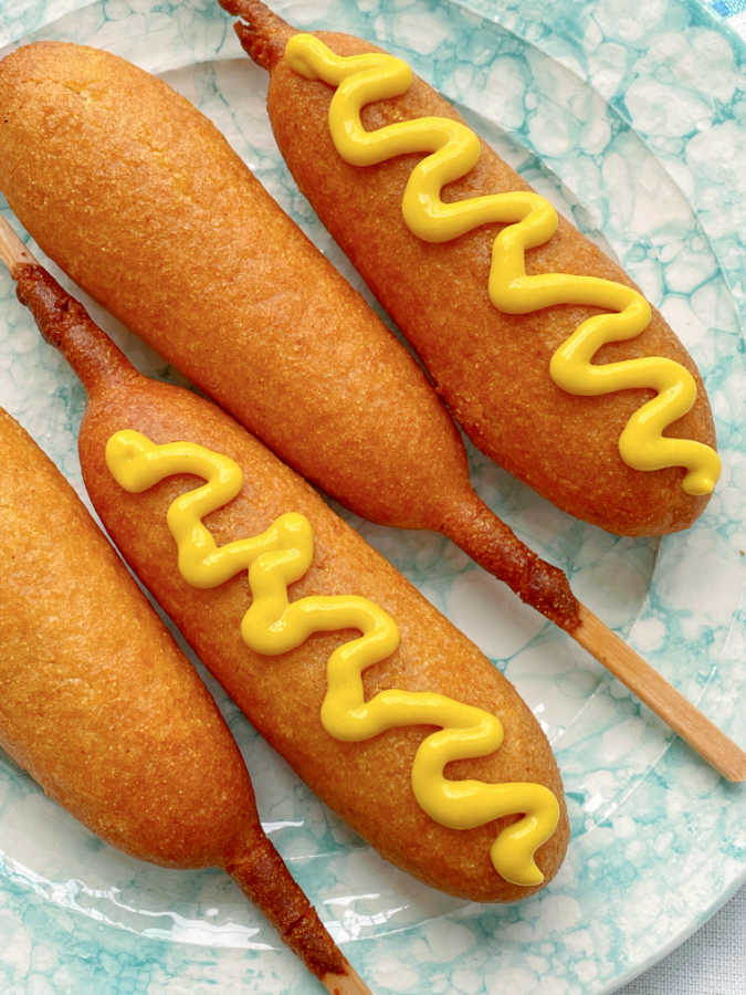
MULTIPOLYGON (((715 15, 733 14, 735 23, 739 0, 713 0, 712 10, 650 0, 633 11, 627 0, 274 6, 298 27, 350 31, 408 59, 620 260, 695 357, 724 473, 685 534, 660 542, 608 535, 477 452, 470 459, 495 511, 744 743, 746 57, 715 15)), ((217 123, 359 286, 295 189, 266 122, 265 76, 214 0, 7 0, 3 52, 38 39, 105 48, 160 74, 217 123)), ((0 301, 0 404, 82 492, 82 388, 40 341, 4 271, 0 301)), ((143 369, 177 378, 91 307, 143 369)), ((246 757, 267 831, 377 993, 612 991, 743 882, 743 786, 718 778, 600 666, 444 540, 346 517, 529 703, 563 772, 570 850, 555 881, 523 903, 477 907, 441 896, 347 830, 207 678, 246 757)), ((112 850, 2 754, 0 938, 3 992, 321 991, 227 877, 154 868, 112 850)))

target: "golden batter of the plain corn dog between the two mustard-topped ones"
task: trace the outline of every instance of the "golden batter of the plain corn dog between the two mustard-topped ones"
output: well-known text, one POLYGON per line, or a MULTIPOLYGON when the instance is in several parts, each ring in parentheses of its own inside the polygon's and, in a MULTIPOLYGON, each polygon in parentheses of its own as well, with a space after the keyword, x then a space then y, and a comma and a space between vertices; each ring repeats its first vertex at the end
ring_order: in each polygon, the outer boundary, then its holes
POLYGON ((0 63, 0 187, 44 251, 358 514, 442 531, 567 629, 577 604, 476 498, 417 364, 216 128, 105 52, 0 63))

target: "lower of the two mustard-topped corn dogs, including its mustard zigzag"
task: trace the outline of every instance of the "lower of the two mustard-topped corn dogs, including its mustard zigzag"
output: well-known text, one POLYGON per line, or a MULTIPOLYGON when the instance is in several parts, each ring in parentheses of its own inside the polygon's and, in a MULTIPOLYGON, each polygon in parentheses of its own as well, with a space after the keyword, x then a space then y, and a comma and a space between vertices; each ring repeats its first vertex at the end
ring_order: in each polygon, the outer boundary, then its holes
POLYGON ((137 374, 40 266, 18 295, 88 390, 81 464, 109 534, 265 739, 425 882, 509 901, 548 881, 561 783, 512 685, 230 416, 137 374))

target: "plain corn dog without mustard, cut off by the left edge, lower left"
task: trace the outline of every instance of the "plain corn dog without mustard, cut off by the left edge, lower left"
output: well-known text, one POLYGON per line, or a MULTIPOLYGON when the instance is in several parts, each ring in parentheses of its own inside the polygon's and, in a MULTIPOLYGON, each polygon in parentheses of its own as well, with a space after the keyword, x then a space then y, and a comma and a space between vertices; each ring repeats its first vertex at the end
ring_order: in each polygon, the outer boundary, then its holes
POLYGON ((113 846, 168 867, 224 868, 329 991, 367 992, 264 835, 207 689, 72 488, 2 409, 0 459, 0 744, 113 846))

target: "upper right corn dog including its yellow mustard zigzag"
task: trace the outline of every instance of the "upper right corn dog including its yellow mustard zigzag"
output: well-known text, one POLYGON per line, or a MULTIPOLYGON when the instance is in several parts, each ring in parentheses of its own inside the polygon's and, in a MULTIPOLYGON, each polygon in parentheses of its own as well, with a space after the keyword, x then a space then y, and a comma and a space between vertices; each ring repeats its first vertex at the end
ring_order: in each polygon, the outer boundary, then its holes
POLYGON ((259 0, 221 2, 249 20, 237 31, 270 71, 301 190, 472 441, 610 532, 690 525, 717 479, 712 416, 693 360, 629 277, 399 60, 340 60, 380 50, 333 33, 283 57, 293 29, 259 0))

